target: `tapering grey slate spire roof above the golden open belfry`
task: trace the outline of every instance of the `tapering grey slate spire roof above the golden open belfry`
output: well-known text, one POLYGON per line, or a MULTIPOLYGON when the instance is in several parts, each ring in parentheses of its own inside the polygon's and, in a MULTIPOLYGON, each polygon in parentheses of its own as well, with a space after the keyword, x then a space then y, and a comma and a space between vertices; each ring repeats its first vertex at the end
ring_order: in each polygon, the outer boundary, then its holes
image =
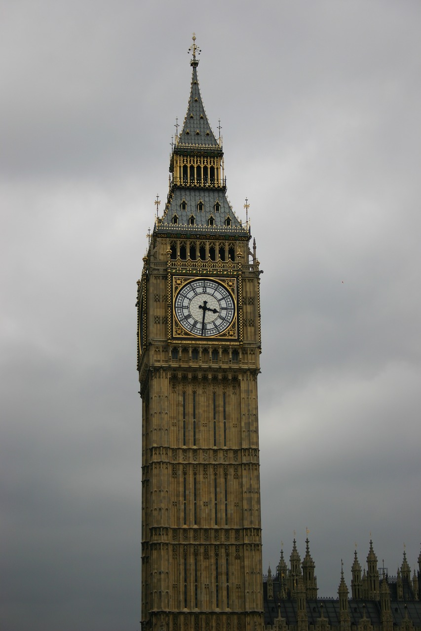
POLYGON ((207 148, 217 148, 220 150, 219 143, 210 129, 207 120, 205 108, 203 106, 202 97, 197 80, 197 67, 193 65, 192 87, 190 90, 190 98, 188 100, 187 113, 181 127, 180 137, 176 144, 176 150, 182 149, 183 146, 192 147, 201 145, 207 148))

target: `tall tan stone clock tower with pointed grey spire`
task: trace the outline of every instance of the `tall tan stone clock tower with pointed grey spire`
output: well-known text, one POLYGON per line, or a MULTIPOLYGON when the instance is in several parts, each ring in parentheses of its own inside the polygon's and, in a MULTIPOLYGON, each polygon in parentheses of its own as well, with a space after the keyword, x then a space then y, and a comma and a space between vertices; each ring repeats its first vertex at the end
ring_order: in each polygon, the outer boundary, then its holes
POLYGON ((261 631, 259 261, 226 198, 193 35, 170 184, 138 281, 142 631, 261 631))

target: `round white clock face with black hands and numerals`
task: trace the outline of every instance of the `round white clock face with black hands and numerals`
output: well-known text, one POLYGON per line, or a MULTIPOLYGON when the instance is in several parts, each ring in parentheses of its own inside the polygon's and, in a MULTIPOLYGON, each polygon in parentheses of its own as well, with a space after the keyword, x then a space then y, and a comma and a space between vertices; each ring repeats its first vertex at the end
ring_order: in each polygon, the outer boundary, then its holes
POLYGON ((174 313, 181 327, 198 337, 224 333, 235 318, 235 301, 228 288, 212 278, 184 283, 174 298, 174 313))

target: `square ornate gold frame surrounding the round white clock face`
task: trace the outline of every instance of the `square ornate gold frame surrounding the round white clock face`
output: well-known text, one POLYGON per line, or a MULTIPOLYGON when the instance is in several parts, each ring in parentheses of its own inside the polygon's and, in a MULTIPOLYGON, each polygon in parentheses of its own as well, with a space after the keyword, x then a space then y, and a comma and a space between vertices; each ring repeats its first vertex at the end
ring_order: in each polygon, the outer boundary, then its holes
POLYGON ((239 317, 238 317, 238 279, 236 277, 230 276, 229 278, 223 278, 221 276, 212 276, 212 274, 208 275, 200 275, 200 276, 171 276, 171 302, 169 302, 168 306, 168 340, 171 342, 182 341, 183 343, 196 343, 196 344, 204 344, 204 343, 218 343, 218 344, 229 344, 229 343, 238 343, 239 334, 240 334, 240 326, 239 326, 239 317), (216 283, 220 283, 226 288, 226 290, 231 294, 234 303, 234 317, 229 324, 228 328, 223 331, 223 333, 217 333, 216 335, 209 336, 197 336, 190 331, 186 331, 186 329, 178 322, 178 319, 175 314, 174 304, 177 297, 178 292, 180 292, 181 288, 189 283, 192 280, 206 279, 212 280, 216 283))

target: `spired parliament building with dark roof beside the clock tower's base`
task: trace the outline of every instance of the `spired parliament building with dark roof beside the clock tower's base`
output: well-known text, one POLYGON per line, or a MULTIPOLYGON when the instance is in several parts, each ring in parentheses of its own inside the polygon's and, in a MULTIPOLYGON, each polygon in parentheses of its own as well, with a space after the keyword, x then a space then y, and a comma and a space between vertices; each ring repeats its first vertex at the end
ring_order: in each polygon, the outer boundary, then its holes
POLYGON ((293 540, 291 567, 281 560, 276 574, 264 577, 263 599, 265 631, 417 631, 421 630, 421 553, 418 572, 413 572, 403 553, 403 562, 396 576, 384 567, 377 567, 377 557, 370 540, 367 569, 358 562, 357 550, 351 566, 351 598, 343 569, 338 598, 318 598, 315 563, 310 556, 308 538, 306 553, 300 554, 293 540))

